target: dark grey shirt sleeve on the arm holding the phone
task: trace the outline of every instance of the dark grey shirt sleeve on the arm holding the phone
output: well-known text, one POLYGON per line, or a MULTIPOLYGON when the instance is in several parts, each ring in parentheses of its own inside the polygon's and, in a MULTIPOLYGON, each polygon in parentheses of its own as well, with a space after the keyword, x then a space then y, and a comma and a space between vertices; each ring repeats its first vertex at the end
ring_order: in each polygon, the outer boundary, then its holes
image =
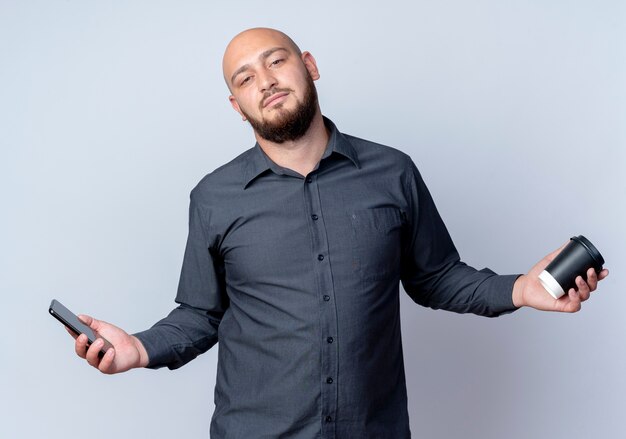
POLYGON ((194 194, 189 206, 189 236, 178 284, 179 304, 150 329, 134 334, 148 352, 149 368, 177 369, 218 341, 218 327, 229 306, 224 265, 209 239, 210 215, 194 194))

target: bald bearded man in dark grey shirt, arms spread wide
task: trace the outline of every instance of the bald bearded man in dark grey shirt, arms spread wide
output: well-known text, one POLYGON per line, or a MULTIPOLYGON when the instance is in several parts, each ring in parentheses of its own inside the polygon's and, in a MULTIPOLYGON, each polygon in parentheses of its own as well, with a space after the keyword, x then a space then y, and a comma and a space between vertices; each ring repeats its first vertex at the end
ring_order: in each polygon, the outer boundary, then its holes
POLYGON ((191 192, 179 306, 129 335, 81 318, 102 340, 76 353, 103 373, 178 368, 219 341, 216 438, 410 437, 399 284, 418 304, 495 317, 521 306, 576 312, 598 281, 558 300, 538 274, 461 262, 411 158, 341 133, 322 116, 315 59, 282 32, 228 45, 230 102, 253 148, 191 192))

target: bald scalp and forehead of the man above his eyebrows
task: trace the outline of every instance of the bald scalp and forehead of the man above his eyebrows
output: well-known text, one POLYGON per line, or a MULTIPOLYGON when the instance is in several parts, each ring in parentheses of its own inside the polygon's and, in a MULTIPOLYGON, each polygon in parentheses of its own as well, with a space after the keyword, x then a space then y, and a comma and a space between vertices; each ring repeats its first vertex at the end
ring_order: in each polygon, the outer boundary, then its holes
POLYGON ((232 91, 235 76, 256 61, 258 56, 269 56, 271 51, 280 49, 297 56, 302 54, 288 35, 276 29, 257 27, 237 34, 226 46, 222 59, 222 72, 228 89, 232 91))

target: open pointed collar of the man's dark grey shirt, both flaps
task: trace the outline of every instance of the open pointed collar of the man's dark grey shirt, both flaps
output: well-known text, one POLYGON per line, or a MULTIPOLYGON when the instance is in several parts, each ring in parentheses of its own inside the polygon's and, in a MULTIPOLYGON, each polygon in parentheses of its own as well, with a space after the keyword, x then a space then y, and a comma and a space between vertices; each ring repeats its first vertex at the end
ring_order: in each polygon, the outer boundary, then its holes
MULTIPOLYGON (((329 157, 332 153, 336 152, 350 159, 354 166, 356 166, 357 169, 360 169, 361 164, 359 162, 359 157, 350 141, 346 138, 346 136, 339 132, 335 124, 325 116, 324 124, 326 125, 326 128, 328 128, 330 131, 330 137, 328 138, 328 145, 326 145, 326 150, 324 151, 324 154, 322 154, 322 160, 329 157)), ((254 145, 254 148, 252 149, 244 167, 243 188, 247 188, 252 180, 257 178, 264 172, 272 170, 276 173, 282 173, 279 172, 280 169, 283 168, 274 163, 267 156, 267 154, 263 152, 263 149, 261 149, 261 146, 257 142, 256 145, 254 145)))

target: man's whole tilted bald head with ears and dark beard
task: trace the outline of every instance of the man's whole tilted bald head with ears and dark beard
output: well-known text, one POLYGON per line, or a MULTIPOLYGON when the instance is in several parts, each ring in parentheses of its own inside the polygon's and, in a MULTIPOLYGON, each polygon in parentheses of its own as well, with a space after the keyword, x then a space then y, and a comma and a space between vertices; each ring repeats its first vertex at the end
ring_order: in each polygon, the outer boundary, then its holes
POLYGON ((224 54, 224 78, 233 108, 274 143, 302 137, 318 111, 315 60, 280 32, 253 29, 235 37, 224 54))

